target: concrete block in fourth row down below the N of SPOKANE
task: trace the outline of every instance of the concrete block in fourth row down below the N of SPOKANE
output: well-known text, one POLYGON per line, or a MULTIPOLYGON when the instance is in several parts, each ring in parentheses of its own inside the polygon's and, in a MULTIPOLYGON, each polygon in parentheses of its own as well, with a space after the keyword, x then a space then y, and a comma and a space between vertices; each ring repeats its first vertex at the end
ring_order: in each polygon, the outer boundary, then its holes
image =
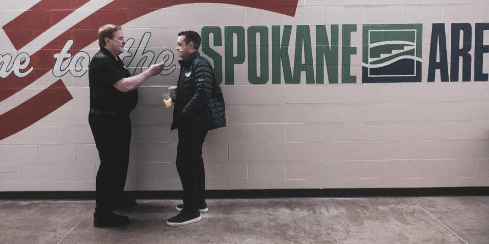
POLYGON ((342 142, 306 142, 306 160, 341 160, 342 148, 342 142))

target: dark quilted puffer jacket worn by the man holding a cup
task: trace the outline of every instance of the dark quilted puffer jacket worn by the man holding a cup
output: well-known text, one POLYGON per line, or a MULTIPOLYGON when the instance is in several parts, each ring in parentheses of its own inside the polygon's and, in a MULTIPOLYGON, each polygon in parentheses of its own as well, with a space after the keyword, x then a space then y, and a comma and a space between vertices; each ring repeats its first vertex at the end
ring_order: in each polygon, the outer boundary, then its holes
POLYGON ((223 92, 215 81, 209 61, 196 51, 179 63, 178 95, 171 129, 190 126, 193 131, 205 131, 225 127, 223 92))

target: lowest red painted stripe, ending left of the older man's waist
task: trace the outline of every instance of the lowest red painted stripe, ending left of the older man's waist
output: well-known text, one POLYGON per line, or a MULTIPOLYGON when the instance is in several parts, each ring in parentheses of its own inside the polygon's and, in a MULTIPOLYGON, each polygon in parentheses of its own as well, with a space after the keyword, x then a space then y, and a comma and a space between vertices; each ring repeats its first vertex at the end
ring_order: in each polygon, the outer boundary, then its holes
POLYGON ((71 99, 73 97, 63 81, 58 80, 28 101, 0 115, 0 140, 31 126, 71 99))

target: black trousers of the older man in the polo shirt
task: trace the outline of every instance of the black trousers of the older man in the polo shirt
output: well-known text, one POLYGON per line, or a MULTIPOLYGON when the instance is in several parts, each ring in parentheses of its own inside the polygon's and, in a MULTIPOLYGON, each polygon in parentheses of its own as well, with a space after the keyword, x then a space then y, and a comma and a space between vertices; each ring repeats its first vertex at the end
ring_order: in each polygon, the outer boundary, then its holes
POLYGON ((95 182, 97 206, 95 212, 104 214, 114 209, 122 198, 129 165, 131 119, 129 114, 88 116, 100 157, 95 182))

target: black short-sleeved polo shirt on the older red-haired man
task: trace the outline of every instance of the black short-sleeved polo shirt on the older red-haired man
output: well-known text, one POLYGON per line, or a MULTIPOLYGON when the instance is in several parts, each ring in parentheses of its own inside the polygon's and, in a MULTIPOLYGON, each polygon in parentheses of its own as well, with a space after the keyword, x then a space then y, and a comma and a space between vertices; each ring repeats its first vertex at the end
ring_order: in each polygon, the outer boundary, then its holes
POLYGON ((90 108, 129 113, 138 103, 138 90, 123 93, 114 87, 117 81, 131 74, 122 60, 101 47, 93 56, 88 69, 90 108))

